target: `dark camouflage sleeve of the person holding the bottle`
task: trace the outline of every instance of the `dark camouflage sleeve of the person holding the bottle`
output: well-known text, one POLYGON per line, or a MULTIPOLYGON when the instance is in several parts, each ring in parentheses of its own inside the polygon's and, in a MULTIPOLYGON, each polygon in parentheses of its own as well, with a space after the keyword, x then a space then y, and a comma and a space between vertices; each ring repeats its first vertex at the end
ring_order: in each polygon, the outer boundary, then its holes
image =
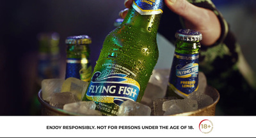
POLYGON ((256 99, 255 72, 244 59, 240 45, 230 31, 226 20, 212 1, 188 1, 212 10, 220 20, 221 36, 214 45, 202 46, 199 67, 207 76, 207 83, 219 90, 221 98, 224 99, 219 103, 223 111, 226 114, 256 114, 256 111, 248 106, 255 103, 256 99))

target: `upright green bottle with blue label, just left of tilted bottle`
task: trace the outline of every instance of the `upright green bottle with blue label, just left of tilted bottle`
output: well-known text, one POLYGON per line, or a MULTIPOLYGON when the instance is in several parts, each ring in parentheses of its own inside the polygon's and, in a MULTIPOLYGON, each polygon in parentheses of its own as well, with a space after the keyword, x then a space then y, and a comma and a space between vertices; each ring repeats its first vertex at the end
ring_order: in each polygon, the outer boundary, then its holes
POLYGON ((77 78, 90 81, 92 77, 92 66, 90 64, 90 48, 92 39, 89 36, 68 36, 67 44, 67 66, 65 79, 77 78))

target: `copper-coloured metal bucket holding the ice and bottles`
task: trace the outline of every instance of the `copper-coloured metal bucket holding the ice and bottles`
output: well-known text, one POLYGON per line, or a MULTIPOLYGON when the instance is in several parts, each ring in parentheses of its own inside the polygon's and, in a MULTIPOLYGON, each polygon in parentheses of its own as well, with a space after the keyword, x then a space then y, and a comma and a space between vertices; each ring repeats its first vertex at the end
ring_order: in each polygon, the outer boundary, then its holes
MULTIPOLYGON (((220 93, 213 88, 212 86, 207 86, 205 90, 205 94, 209 95, 213 99, 213 103, 207 107, 202 109, 198 109, 196 111, 174 114, 174 116, 214 116, 216 104, 220 100, 220 93)), ((41 111, 42 115, 49 116, 69 116, 69 115, 77 115, 74 113, 69 113, 64 111, 63 109, 59 109, 57 107, 53 107, 42 99, 42 91, 38 92, 38 100, 41 103, 41 111)))

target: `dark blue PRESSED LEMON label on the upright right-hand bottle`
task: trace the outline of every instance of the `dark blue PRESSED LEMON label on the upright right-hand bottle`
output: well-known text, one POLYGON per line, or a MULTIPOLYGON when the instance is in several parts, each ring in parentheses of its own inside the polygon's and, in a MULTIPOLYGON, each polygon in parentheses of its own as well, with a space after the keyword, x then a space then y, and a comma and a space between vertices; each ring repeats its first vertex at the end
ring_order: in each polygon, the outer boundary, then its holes
POLYGON ((198 89, 198 58, 198 53, 174 54, 169 85, 181 97, 185 98, 198 89))

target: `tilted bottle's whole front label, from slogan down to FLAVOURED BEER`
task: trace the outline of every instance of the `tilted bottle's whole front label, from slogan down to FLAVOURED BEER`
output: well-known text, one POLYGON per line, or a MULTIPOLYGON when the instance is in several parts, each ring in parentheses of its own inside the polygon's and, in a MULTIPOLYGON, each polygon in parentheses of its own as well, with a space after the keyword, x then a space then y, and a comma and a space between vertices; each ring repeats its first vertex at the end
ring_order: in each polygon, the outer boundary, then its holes
POLYGON ((103 115, 117 115, 125 100, 136 101, 140 84, 129 76, 134 72, 118 64, 103 64, 104 69, 93 74, 87 88, 86 100, 93 100, 103 115))

